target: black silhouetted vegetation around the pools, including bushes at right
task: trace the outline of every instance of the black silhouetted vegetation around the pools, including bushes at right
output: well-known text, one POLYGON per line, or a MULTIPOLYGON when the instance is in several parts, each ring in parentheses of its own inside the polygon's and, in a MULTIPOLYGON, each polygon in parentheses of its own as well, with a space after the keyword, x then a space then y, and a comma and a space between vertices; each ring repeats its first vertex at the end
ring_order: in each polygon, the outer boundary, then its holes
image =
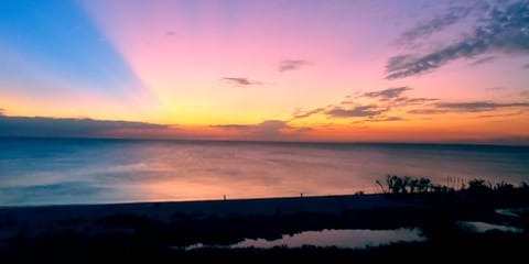
MULTIPOLYGON (((84 219, 65 219, 61 229, 50 228, 37 237, 23 229, 0 248, 1 263, 42 262, 301 262, 301 263, 430 263, 501 262, 519 263, 529 250, 529 186, 492 184, 473 179, 455 189, 428 178, 388 176, 377 182, 386 199, 408 202, 407 207, 345 210, 339 213, 300 212, 270 216, 208 216, 175 211, 170 221, 140 213, 114 213, 90 222, 105 232, 87 232, 84 219), (503 216, 498 208, 526 208, 519 217, 503 216), (457 221, 485 221, 523 229, 522 233, 489 231, 476 233, 457 221), (71 228, 68 228, 71 227, 71 228), (77 228, 76 228, 77 227, 77 228), (303 246, 288 249, 204 248, 186 251, 195 243, 233 244, 245 238, 274 240, 282 234, 323 229, 420 228, 425 242, 395 243, 365 250, 303 246), (214 258, 212 258, 214 257, 214 258)), ((304 198, 300 198, 304 199, 304 198)), ((9 216, 0 224, 14 224, 9 216)), ((86 224, 86 223, 85 223, 86 224)), ((1 241, 0 241, 1 242, 1 241)))

